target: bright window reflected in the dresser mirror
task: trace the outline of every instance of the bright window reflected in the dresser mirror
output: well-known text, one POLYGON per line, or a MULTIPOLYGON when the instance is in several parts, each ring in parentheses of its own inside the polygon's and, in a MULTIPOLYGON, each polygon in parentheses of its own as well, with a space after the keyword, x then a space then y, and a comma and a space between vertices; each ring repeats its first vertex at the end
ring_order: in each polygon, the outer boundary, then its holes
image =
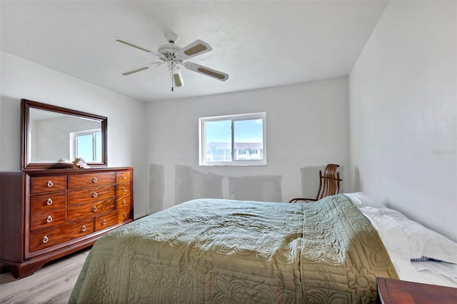
POLYGON ((101 130, 88 130, 70 133, 73 158, 83 158, 86 162, 101 161, 101 130))

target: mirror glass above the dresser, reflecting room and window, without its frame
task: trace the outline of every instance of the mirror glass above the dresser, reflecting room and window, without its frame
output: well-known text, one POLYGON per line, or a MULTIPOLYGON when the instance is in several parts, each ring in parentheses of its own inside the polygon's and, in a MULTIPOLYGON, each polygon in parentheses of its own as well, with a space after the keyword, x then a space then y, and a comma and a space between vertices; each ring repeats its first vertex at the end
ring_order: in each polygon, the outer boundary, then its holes
POLYGON ((101 122, 30 108, 29 163, 101 162, 101 122))

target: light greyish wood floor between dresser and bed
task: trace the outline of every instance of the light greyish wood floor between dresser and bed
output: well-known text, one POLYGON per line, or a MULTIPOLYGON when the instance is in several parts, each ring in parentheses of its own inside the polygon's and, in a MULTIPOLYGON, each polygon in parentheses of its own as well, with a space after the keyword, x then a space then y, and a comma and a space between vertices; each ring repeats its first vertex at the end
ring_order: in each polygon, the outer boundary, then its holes
POLYGON ((33 275, 16 280, 0 274, 0 303, 68 303, 89 249, 44 265, 33 275))

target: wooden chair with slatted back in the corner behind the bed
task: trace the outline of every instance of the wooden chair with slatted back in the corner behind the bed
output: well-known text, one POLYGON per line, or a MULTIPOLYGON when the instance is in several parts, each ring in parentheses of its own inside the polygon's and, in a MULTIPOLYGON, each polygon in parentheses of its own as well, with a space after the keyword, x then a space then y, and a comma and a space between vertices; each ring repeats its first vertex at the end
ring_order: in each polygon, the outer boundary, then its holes
POLYGON ((307 203, 318 201, 326 196, 333 196, 340 191, 340 173, 336 172, 339 165, 329 163, 323 171, 319 171, 319 191, 316 198, 292 198, 289 203, 296 203, 297 201, 305 201, 307 203))

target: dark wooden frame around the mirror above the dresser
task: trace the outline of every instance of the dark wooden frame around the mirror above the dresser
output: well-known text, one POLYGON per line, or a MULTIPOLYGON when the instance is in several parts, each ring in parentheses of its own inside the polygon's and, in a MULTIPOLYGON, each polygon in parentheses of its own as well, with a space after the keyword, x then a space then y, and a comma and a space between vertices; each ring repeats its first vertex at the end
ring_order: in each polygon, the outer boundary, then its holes
MULTIPOLYGON (((31 147, 30 143, 30 108, 36 108, 38 110, 50 111, 55 113, 63 113, 69 116, 76 116, 101 123, 101 161, 100 162, 87 162, 89 166, 107 166, 107 135, 106 128, 108 125, 108 118, 105 116, 99 116, 92 113, 86 113, 82 111, 76 111, 71 108, 62 108, 60 106, 52 106, 47 103, 41 103, 38 101, 30 101, 28 99, 21 99, 21 168, 71 168, 74 167, 74 163, 32 163, 29 162, 29 152, 31 147)), ((72 161, 72 160, 70 160, 72 161)))

